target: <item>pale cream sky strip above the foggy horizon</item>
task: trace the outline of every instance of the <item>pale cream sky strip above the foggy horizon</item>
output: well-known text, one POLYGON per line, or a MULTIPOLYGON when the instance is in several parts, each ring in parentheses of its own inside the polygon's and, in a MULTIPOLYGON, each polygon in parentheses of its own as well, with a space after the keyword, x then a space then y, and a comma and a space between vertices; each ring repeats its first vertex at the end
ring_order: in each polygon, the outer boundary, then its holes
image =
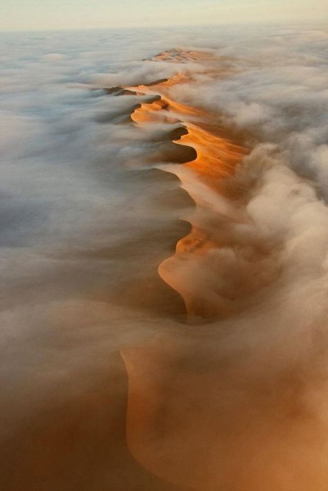
POLYGON ((323 21, 328 0, 0 0, 0 30, 323 21))

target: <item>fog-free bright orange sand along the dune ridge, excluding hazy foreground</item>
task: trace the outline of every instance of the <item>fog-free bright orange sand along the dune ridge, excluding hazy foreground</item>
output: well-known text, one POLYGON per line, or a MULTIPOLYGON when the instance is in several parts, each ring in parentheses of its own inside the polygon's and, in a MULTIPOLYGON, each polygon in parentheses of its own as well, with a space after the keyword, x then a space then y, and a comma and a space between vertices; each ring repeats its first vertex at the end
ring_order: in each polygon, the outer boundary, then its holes
MULTIPOLYGON (((170 62, 190 59, 205 63, 210 61, 208 68, 210 73, 216 73, 218 77, 226 73, 222 68, 212 68, 212 62, 215 59, 211 53, 173 50, 161 53, 154 59, 170 62)), ((219 64, 219 60, 215 61, 219 64)), ((142 103, 134 109, 131 113, 131 120, 134 123, 140 126, 158 122, 167 125, 181 124, 181 127, 186 129, 185 134, 172 142, 183 147, 192 147, 196 151, 196 158, 183 165, 172 163, 161 165, 158 168, 171 172, 179 178, 181 187, 188 192, 197 209, 211 209, 212 199, 204 199, 204 196, 217 199, 217 196, 226 194, 224 178, 234 173, 236 165, 248 154, 248 149, 230 138, 228 131, 218 124, 217 115, 194 106, 181 104, 170 98, 170 89, 173 86, 187 83, 192 83, 192 78, 177 73, 170 79, 124 87, 124 89, 131 93, 150 95, 155 98, 152 102, 142 103)), ((192 255, 197 259, 202 252, 210 248, 217 248, 220 244, 212 241, 205 229, 193 223, 191 219, 188 221, 192 227, 190 234, 181 238, 176 244, 174 255, 158 266, 158 274, 165 283, 181 295, 185 302, 189 322, 193 322, 197 318, 212 318, 217 314, 217 307, 210 305, 211 302, 208 304, 204 299, 190 294, 189 288, 186 288, 188 278, 185 277, 185 274, 180 274, 179 263, 186 255, 192 255)))

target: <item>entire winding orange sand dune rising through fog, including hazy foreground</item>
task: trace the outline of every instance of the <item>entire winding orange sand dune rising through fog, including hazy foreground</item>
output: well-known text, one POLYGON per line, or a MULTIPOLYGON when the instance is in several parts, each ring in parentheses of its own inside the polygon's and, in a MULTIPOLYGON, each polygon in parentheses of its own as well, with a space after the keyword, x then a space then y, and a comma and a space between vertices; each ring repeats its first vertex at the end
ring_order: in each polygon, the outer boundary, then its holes
MULTIPOLYGON (((179 61, 189 57, 177 53, 179 61)), ((172 62, 175 56, 163 53, 159 59, 172 62)), ((199 61, 202 53, 192 57, 199 61)), ((192 83, 178 75, 132 88, 144 94, 154 91, 161 100, 141 104, 131 119, 141 127, 179 123, 187 131, 174 143, 197 152, 183 165, 172 158, 172 163, 159 166, 179 177, 195 210, 185 217, 192 230, 158 272, 183 297, 190 324, 204 326, 215 319, 221 324, 207 331, 201 349, 196 328, 187 340, 160 334, 122 351, 129 377, 127 443, 147 470, 198 491, 323 490, 327 480, 322 462, 314 462, 308 449, 317 454, 326 447, 318 420, 302 402, 302 362, 275 365, 275 342, 267 360, 262 342, 251 352, 247 348, 244 326, 252 331, 253 323, 258 324, 255 305, 262 303, 264 312, 274 309, 282 274, 277 267, 281 246, 251 232, 243 202, 251 187, 239 187, 239 174, 252 174, 239 165, 249 149, 211 113, 170 98, 171 86, 187 82, 192 83), (250 234, 244 233, 247 228, 250 234), (230 354, 227 336, 232 337, 230 354), (304 465, 307 470, 300 479, 304 465)), ((267 331, 274 333, 275 322, 265 319, 267 331)))

